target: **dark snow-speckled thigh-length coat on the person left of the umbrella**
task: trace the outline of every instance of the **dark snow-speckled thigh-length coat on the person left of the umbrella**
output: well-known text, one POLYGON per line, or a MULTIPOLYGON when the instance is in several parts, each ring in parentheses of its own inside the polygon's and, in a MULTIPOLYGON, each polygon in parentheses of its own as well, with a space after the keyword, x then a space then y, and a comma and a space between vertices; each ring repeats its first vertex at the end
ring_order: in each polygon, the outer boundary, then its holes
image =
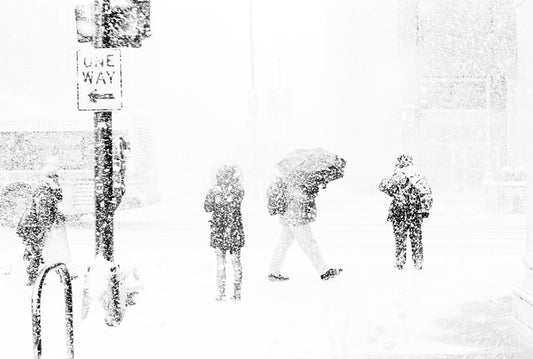
POLYGON ((211 247, 233 251, 244 246, 241 203, 244 189, 238 181, 219 182, 210 189, 204 202, 212 213, 211 247))

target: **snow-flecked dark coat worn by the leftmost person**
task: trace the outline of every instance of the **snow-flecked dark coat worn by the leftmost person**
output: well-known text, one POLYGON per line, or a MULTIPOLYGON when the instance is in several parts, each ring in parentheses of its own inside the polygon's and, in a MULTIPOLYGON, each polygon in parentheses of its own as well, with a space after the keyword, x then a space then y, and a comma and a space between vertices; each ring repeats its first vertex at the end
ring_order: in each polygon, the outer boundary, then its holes
POLYGON ((17 235, 26 245, 25 257, 29 252, 42 249, 46 233, 61 216, 58 203, 63 199, 59 184, 47 178, 39 184, 32 194, 32 199, 26 212, 17 225, 17 235))

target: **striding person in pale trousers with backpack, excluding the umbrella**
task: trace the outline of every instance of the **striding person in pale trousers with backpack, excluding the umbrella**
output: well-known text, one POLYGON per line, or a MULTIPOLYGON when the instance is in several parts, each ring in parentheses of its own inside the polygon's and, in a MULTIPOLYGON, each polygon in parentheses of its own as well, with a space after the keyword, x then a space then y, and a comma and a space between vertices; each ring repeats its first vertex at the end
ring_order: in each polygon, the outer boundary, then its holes
POLYGON ((316 219, 315 198, 319 186, 326 183, 305 179, 305 174, 293 173, 283 179, 278 178, 268 190, 269 212, 279 214, 281 238, 274 250, 268 279, 286 281, 289 278, 280 274, 287 251, 294 239, 307 255, 322 280, 338 276, 342 269, 329 268, 311 232, 311 223, 316 219))

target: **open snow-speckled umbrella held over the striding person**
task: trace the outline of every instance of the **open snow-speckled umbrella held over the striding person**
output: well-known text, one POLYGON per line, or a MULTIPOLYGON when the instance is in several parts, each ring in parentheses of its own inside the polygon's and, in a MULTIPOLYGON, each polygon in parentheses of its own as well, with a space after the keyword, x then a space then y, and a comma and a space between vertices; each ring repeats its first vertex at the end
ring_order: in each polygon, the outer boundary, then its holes
POLYGON ((276 164, 285 176, 313 178, 327 184, 344 176, 346 161, 323 148, 296 149, 276 164))

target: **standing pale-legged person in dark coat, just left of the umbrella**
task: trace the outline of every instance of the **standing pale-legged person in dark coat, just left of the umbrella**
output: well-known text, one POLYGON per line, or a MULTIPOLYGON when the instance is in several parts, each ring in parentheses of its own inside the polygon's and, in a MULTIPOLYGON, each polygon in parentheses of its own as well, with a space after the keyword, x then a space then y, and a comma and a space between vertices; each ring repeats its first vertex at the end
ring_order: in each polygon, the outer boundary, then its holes
POLYGON ((216 186, 209 190, 204 202, 206 212, 212 213, 211 247, 217 258, 217 300, 226 296, 226 253, 229 251, 234 273, 232 300, 241 299, 242 265, 241 248, 244 246, 241 203, 244 198, 239 171, 236 166, 225 165, 217 172, 216 186))

